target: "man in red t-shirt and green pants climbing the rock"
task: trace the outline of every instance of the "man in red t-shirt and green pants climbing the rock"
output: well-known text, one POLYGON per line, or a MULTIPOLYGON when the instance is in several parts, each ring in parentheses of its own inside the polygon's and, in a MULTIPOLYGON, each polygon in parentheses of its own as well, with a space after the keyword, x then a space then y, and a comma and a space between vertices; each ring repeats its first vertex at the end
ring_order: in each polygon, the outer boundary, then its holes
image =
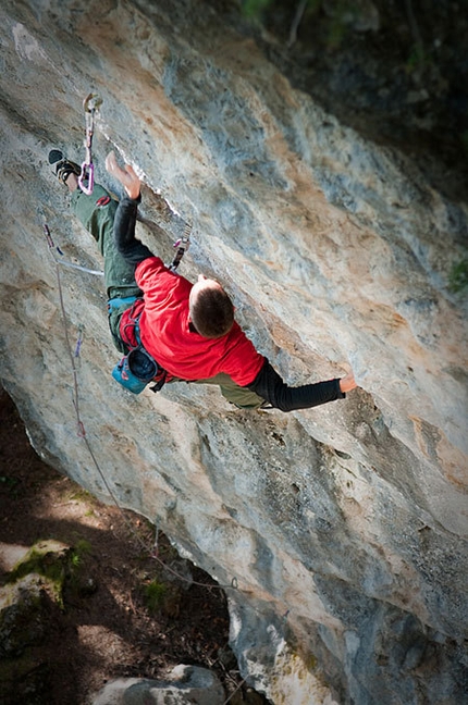
POLYGON ((283 382, 234 320, 233 304, 215 280, 195 284, 165 267, 135 237, 140 181, 122 169, 111 152, 106 168, 124 187, 120 202, 95 184, 90 196, 78 188, 79 166, 59 150, 49 162, 72 195, 72 207, 97 240, 104 258, 109 324, 115 347, 127 354, 138 344, 165 371, 165 381, 220 386, 238 408, 306 409, 338 398, 356 387, 352 373, 298 387, 283 382))

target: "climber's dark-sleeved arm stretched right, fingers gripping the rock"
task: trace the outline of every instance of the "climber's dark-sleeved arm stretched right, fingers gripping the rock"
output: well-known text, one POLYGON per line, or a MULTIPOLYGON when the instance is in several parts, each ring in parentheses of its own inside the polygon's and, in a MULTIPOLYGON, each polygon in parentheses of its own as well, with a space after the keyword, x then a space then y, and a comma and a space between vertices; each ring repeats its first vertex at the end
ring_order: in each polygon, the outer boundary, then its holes
POLYGON ((349 373, 342 380, 335 379, 329 382, 290 387, 266 359, 254 382, 247 386, 272 407, 281 409, 281 411, 294 411, 295 409, 310 409, 335 399, 344 399, 346 392, 350 392, 357 385, 353 373, 349 373))

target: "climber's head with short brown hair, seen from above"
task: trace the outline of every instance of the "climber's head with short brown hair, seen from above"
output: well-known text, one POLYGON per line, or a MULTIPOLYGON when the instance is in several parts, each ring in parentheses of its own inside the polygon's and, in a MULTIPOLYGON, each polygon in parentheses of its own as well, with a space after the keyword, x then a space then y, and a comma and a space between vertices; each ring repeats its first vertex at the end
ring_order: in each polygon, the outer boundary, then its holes
POLYGON ((192 287, 188 308, 193 325, 204 337, 222 337, 233 326, 233 302, 219 282, 202 274, 192 287))

